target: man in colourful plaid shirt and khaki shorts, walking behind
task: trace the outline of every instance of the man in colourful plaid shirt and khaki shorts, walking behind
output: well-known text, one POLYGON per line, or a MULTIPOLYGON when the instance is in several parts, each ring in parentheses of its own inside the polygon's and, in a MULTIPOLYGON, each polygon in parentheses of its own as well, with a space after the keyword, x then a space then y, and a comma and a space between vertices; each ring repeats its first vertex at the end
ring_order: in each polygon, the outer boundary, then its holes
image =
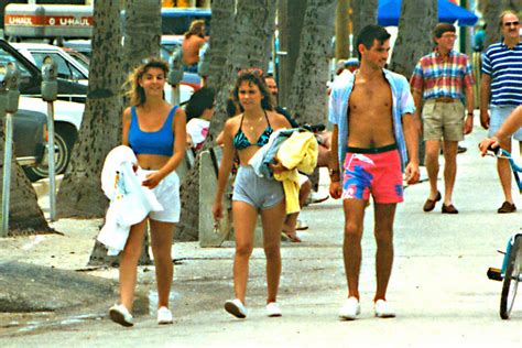
POLYGON ((474 127, 475 81, 468 56, 453 50, 457 39, 455 33, 453 24, 438 23, 435 26, 435 51, 418 61, 410 80, 416 107, 415 119, 422 124, 426 144, 424 163, 431 191, 423 207, 424 211, 432 211, 442 199, 437 189, 437 176, 441 140, 444 140, 445 191, 442 213, 458 214, 452 200, 457 175, 458 142, 464 139, 464 134, 469 134, 474 127), (467 116, 463 105, 465 95, 467 116))

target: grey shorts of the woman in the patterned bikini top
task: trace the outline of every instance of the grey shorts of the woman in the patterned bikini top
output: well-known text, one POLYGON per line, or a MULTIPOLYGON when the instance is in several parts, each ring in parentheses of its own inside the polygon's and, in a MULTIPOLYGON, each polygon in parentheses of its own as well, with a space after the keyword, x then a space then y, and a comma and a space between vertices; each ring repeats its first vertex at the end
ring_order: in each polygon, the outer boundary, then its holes
POLYGON ((241 165, 233 182, 232 200, 268 209, 283 200, 283 185, 274 178, 259 177, 250 165, 241 165))

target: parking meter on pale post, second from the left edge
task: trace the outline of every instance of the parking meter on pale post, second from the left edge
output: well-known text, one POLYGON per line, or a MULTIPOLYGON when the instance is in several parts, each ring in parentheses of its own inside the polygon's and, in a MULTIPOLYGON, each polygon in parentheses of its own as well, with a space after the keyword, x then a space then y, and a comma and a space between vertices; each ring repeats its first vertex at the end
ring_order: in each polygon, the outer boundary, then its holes
POLYGON ((47 102, 47 172, 48 172, 48 206, 50 219, 56 220, 56 177, 54 163, 54 100, 58 95, 57 66, 47 56, 42 65, 42 99, 47 102))

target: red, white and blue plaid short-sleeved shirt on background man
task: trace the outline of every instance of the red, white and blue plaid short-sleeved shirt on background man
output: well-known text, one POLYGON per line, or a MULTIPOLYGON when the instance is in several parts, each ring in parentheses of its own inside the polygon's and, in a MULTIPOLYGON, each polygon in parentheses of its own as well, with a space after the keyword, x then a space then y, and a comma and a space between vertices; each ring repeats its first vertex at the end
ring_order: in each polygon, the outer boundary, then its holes
POLYGON ((410 85, 424 99, 464 99, 464 88, 475 83, 468 56, 452 50, 447 57, 437 50, 423 56, 413 70, 410 85))

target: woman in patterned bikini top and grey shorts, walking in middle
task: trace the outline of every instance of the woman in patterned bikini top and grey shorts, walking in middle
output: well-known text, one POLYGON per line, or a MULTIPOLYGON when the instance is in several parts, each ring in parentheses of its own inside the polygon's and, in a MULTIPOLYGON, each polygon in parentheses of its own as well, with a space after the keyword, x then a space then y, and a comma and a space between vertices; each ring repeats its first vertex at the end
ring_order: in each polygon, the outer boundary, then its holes
MULTIPOLYGON (((232 218, 236 233, 233 259, 235 300, 225 303, 225 309, 236 317, 244 318, 244 297, 248 281, 249 259, 252 252, 253 232, 258 213, 263 224, 263 248, 267 255, 267 314, 280 316, 276 303, 281 275, 281 229, 285 218, 282 185, 272 178, 259 177, 248 165, 250 157, 264 145, 270 134, 281 128, 291 128, 289 121, 272 108, 272 97, 255 70, 241 72, 233 89, 242 113, 227 120, 222 131, 222 160, 219 167, 218 187, 213 207, 214 218, 222 217, 222 195, 233 156, 237 152, 240 167, 232 195, 232 218)), ((274 167, 278 171, 276 167, 274 167)))

